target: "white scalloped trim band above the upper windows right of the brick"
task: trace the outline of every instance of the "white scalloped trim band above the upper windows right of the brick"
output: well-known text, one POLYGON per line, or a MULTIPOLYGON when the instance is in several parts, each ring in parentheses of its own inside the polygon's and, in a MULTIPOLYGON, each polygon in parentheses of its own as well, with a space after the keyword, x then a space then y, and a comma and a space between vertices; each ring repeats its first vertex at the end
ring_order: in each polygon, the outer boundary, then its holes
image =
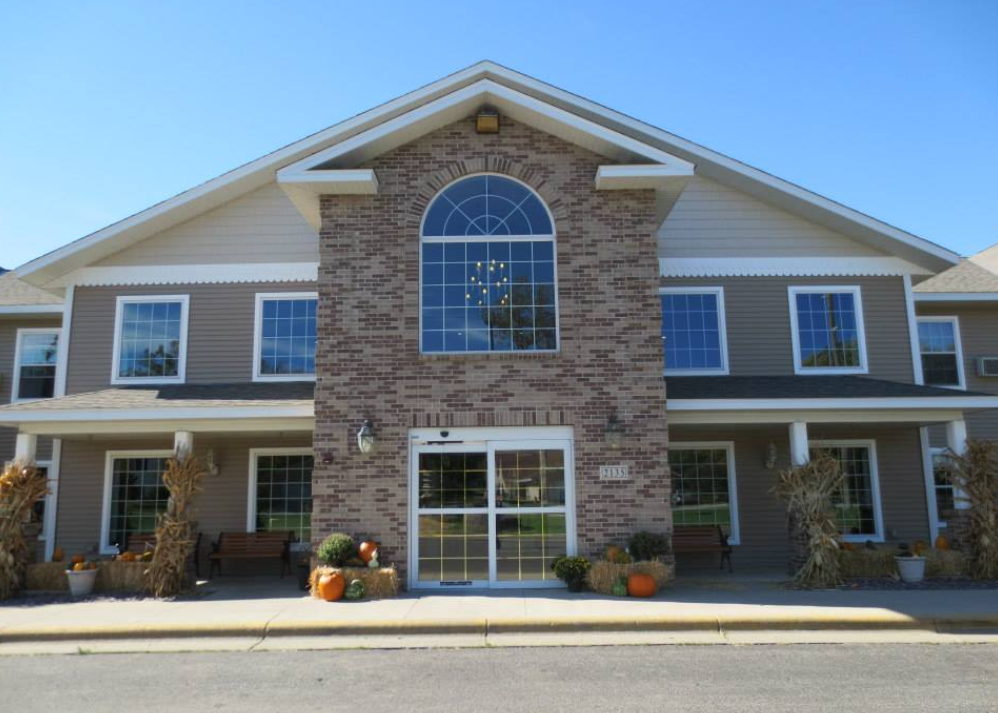
POLYGON ((662 257, 662 277, 819 277, 924 275, 898 257, 662 257))

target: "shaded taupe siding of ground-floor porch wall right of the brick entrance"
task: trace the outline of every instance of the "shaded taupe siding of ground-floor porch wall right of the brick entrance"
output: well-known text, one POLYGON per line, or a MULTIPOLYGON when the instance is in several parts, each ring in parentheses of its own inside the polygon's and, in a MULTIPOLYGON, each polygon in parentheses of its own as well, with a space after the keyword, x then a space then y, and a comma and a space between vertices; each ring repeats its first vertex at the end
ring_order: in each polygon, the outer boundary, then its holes
MULTIPOLYGON (((922 476, 918 429, 907 425, 809 424, 808 437, 817 440, 873 440, 876 443, 884 536, 888 542, 911 542, 929 536, 925 484, 922 476)), ((752 569, 785 570, 790 548, 786 506, 774 494, 778 474, 789 466, 790 439, 786 426, 672 426, 671 443, 733 441, 738 490, 741 544, 732 557, 735 572, 752 569), (778 459, 772 470, 764 461, 766 447, 776 444, 778 459)), ((677 571, 717 567, 717 559, 679 555, 677 571)))

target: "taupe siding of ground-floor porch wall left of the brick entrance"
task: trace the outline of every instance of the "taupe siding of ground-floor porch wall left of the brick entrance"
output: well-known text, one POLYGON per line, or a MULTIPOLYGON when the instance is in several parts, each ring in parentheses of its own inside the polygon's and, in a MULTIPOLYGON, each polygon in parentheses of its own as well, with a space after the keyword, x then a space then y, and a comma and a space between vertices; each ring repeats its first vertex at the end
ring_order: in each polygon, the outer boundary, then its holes
MULTIPOLYGON (((207 573, 205 555, 211 541, 220 532, 246 532, 249 487, 250 448, 311 447, 310 434, 270 434, 254 436, 203 436, 195 441, 195 453, 203 456, 214 451, 218 475, 207 476, 204 492, 198 499, 198 529, 201 540, 203 573, 207 573)), ((59 512, 56 544, 67 555, 90 552, 99 546, 104 504, 105 463, 108 451, 169 450, 173 437, 113 441, 63 440, 63 464, 59 475, 59 512)), ((268 563, 275 575, 276 563, 268 563)), ((233 570, 234 571, 234 570, 233 570)))

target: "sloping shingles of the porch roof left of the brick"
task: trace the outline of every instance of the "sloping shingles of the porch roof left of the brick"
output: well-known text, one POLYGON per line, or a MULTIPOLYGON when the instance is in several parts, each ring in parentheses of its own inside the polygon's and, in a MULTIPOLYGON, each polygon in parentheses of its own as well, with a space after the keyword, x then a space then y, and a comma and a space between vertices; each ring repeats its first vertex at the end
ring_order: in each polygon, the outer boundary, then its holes
POLYGON ((55 399, 0 407, 11 411, 68 411, 103 409, 171 409, 268 406, 310 406, 315 384, 282 383, 182 384, 177 386, 123 386, 55 399))

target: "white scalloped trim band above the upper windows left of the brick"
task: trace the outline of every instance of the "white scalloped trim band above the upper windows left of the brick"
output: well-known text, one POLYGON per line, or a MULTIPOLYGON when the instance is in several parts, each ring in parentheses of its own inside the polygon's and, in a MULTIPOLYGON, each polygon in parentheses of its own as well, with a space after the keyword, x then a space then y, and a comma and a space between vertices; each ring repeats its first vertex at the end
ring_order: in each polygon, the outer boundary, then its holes
MULTIPOLYGON (((317 262, 259 262, 213 265, 106 265, 74 270, 56 285, 204 285, 231 282, 317 282, 317 262)), ((62 305, 56 305, 62 311, 62 305)))

